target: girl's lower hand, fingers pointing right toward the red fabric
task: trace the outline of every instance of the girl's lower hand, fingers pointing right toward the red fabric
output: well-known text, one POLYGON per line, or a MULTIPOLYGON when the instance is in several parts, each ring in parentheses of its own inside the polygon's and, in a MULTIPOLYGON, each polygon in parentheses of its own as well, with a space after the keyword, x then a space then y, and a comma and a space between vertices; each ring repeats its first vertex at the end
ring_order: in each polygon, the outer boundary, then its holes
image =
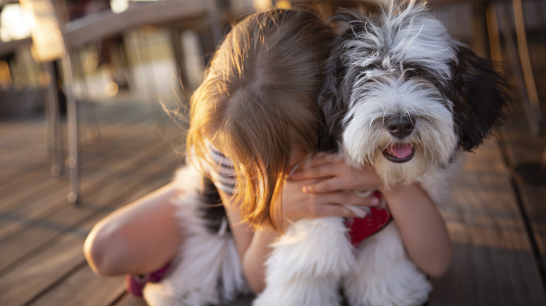
POLYGON ((321 194, 304 193, 306 185, 321 180, 287 180, 282 193, 284 222, 316 217, 364 217, 368 206, 379 204, 375 196, 362 197, 351 191, 328 191, 321 194))

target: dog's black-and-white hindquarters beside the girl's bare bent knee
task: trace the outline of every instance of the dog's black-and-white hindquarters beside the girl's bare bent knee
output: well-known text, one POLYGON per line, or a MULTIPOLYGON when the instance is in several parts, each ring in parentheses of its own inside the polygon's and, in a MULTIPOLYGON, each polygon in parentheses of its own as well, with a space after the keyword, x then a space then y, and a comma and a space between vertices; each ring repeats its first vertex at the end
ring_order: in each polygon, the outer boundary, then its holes
POLYGON ((230 233, 220 195, 210 180, 193 166, 176 173, 180 196, 176 217, 184 243, 172 271, 159 283, 144 287, 152 306, 205 306, 228 302, 250 293, 230 233))

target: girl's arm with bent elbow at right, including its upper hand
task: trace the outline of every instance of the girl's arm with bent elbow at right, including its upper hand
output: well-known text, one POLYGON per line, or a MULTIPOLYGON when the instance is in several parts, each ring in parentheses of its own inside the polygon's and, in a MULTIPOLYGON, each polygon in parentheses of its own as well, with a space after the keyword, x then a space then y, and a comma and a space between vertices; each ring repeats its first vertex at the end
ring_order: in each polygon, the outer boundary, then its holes
POLYGON ((303 190, 321 194, 332 190, 379 190, 384 194, 398 226, 409 258, 430 277, 440 277, 451 263, 451 240, 440 212, 417 184, 384 190, 381 178, 371 167, 355 169, 343 160, 318 156, 293 175, 294 180, 327 177, 303 190))

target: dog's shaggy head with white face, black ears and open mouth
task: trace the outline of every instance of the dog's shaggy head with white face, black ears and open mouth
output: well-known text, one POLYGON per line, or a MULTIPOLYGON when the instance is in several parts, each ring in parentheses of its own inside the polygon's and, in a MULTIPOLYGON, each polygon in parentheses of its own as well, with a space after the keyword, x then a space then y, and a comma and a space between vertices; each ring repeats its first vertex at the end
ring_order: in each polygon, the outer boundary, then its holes
POLYGON ((477 147, 499 123, 502 76, 454 41, 423 3, 332 20, 349 29, 332 52, 319 103, 353 166, 373 165, 386 184, 414 182, 477 147))

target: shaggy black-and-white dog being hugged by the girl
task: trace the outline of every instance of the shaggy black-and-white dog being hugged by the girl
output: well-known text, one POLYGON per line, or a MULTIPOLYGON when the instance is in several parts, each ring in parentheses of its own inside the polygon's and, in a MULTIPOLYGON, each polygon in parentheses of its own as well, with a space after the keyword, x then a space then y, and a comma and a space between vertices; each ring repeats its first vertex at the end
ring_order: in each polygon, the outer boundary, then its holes
MULTIPOLYGON (((440 201, 461 154, 500 123, 505 81, 454 41, 423 3, 333 20, 349 25, 330 57, 320 99, 335 149, 351 166, 374 166, 387 187, 417 182, 440 201)), ((146 287, 146 298, 170 296, 154 305, 205 305, 248 291, 230 234, 207 231, 196 207, 202 187, 184 188, 190 196, 180 200, 181 217, 193 238, 174 272, 146 287)), ((266 265, 267 287, 255 306, 340 305, 340 289, 349 305, 421 305, 432 290, 395 222, 353 247, 343 218, 297 221, 266 265)))

